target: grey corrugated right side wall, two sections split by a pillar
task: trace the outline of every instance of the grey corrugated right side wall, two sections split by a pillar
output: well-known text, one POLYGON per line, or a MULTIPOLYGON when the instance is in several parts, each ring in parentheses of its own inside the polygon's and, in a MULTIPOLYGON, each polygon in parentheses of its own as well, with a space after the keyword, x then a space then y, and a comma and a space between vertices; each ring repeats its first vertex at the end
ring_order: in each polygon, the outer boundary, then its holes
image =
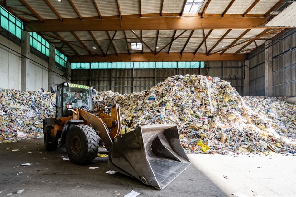
MULTIPOLYGON (((271 46, 271 45, 270 45, 271 46)), ((296 28, 272 40, 273 96, 296 96, 296 28)), ((259 46, 249 59, 249 92, 265 96, 265 45, 259 46)))

